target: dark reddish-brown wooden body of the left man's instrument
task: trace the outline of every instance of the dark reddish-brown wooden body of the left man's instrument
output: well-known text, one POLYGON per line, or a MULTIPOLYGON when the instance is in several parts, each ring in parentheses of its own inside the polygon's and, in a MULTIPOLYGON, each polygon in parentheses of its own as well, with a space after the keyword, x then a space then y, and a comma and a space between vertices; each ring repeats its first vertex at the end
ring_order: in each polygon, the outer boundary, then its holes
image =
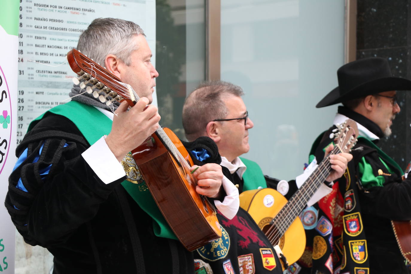
MULTIPOLYGON (((193 161, 177 136, 170 129, 164 131, 192 166, 193 161)), ((132 154, 164 218, 189 251, 221 237, 213 206, 196 192, 195 178, 175 161, 155 134, 132 154)))

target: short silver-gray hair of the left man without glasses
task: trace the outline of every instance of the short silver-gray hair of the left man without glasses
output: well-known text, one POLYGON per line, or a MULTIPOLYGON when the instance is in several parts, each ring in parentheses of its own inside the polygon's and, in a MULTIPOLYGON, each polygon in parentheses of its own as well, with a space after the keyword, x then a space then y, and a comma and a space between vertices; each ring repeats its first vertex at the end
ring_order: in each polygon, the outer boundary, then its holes
POLYGON ((140 26, 134 22, 117 18, 97 18, 81 33, 77 50, 102 67, 109 54, 117 56, 129 66, 130 55, 137 49, 137 45, 132 43, 132 38, 136 35, 145 36, 140 26))

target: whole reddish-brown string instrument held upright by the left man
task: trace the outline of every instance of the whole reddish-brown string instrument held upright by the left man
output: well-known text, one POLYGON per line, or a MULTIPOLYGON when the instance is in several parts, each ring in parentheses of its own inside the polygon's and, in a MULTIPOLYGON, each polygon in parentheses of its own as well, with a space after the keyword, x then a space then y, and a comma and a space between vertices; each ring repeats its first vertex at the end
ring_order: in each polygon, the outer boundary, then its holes
MULTIPOLYGON (((132 107, 139 100, 130 85, 76 49, 67 53, 67 60, 81 87, 102 103, 125 100, 132 107)), ((159 210, 187 250, 221 237, 214 205, 196 192, 197 180, 190 173, 193 161, 170 129, 159 127, 132 154, 159 210)))

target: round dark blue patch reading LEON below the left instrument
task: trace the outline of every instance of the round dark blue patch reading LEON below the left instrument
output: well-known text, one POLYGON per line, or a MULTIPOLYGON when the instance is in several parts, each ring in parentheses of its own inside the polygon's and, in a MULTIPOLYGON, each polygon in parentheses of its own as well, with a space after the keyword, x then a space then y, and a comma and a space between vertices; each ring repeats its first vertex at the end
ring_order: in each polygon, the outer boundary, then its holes
POLYGON ((226 258, 230 249, 230 237, 225 228, 220 226, 222 236, 197 249, 200 256, 209 261, 226 258))

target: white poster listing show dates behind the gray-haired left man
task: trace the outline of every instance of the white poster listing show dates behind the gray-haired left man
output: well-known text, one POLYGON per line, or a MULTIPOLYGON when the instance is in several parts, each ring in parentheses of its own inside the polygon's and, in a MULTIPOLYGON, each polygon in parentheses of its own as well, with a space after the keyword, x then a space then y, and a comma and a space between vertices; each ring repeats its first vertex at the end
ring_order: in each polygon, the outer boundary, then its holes
MULTIPOLYGON (((25 0, 18 41, 18 131, 68 98, 76 76, 66 55, 95 18, 133 21, 144 30, 155 64, 155 0, 25 0), (35 62, 31 62, 33 60, 35 62)), ((157 97, 153 94, 153 104, 157 97)))

